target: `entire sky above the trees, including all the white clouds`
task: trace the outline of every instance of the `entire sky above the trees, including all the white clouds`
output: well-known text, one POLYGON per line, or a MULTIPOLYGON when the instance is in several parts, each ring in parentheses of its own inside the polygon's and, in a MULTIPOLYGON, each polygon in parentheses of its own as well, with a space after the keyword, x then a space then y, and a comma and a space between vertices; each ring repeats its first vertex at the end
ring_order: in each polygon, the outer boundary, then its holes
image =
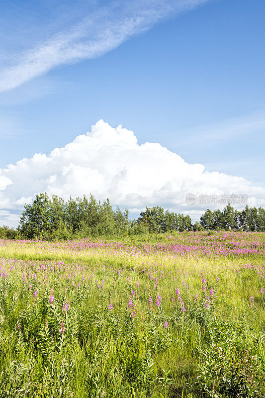
POLYGON ((263 0, 3 0, 0 225, 44 191, 133 216, 222 207, 188 194, 265 207, 264 14, 263 0))

